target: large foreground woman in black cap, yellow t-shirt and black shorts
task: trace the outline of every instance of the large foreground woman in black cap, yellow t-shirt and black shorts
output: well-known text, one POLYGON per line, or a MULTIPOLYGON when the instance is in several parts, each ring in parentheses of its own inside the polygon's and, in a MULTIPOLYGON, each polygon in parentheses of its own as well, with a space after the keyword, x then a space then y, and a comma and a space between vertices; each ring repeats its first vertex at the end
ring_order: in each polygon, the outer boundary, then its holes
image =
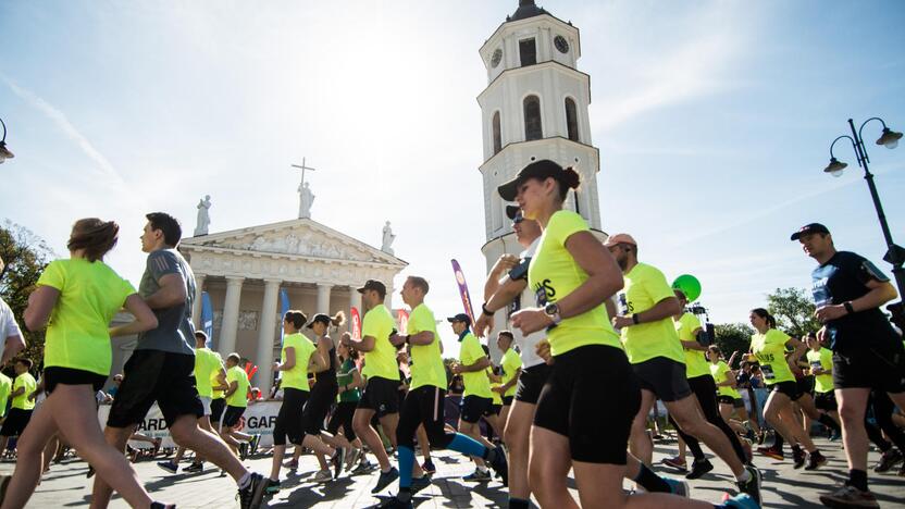
MULTIPOLYGON (((528 272, 537 307, 512 315, 523 334, 547 328, 547 340, 538 346, 553 359, 531 431, 531 489, 542 507, 575 507, 566 484, 574 469, 584 507, 711 507, 659 493, 629 497, 622 491, 640 384, 604 305, 622 287, 619 268, 584 220, 562 210, 568 190, 579 183, 573 169, 542 160, 498 188, 503 199, 517 199, 525 218, 544 231, 528 272)), ((644 465, 636 470, 636 479, 662 482, 644 465)), ((727 504, 757 506, 747 495, 727 504)))

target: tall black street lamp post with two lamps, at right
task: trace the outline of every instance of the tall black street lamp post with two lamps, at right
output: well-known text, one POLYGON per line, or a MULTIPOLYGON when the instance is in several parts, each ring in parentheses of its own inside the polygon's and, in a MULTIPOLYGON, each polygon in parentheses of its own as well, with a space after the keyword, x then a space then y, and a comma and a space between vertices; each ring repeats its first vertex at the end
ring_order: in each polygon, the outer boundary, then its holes
MULTIPOLYGON (((873 174, 870 173, 870 169, 868 167, 868 163, 870 162, 870 158, 867 156, 867 149, 864 146, 864 137, 861 137, 861 131, 864 131, 864 126, 867 125, 871 121, 880 121, 883 125, 883 133, 880 135, 880 138, 877 139, 877 145, 882 145, 888 149, 894 149, 898 146, 898 140, 902 138, 902 133, 896 133, 889 127, 887 127, 887 123, 883 122, 882 119, 873 116, 868 119, 861 124, 861 126, 855 131, 855 123, 852 119, 848 119, 848 126, 852 128, 852 136, 842 135, 833 140, 830 145, 830 164, 823 169, 823 172, 829 173, 832 176, 841 176, 842 171, 845 170, 844 162, 841 162, 833 157, 833 146, 836 141, 845 138, 852 142, 852 147, 855 149, 855 156, 858 160, 858 166, 864 169, 864 178, 867 181, 867 187, 870 189, 870 198, 873 199, 873 208, 877 210, 877 218, 880 220, 880 228, 883 231, 883 239, 887 241, 887 254, 883 257, 883 260, 892 264, 892 273, 895 277, 895 286, 898 289, 898 298, 905 299, 905 271, 902 268, 903 262, 905 262, 905 249, 901 246, 896 246, 895 243, 892 240, 892 234, 890 233, 890 226, 887 224, 887 214, 883 213, 883 206, 880 203, 880 196, 877 194, 877 186, 873 184, 873 174)), ((903 300, 905 301, 905 300, 903 300)), ((902 312, 901 302, 897 306, 897 312, 902 312)))

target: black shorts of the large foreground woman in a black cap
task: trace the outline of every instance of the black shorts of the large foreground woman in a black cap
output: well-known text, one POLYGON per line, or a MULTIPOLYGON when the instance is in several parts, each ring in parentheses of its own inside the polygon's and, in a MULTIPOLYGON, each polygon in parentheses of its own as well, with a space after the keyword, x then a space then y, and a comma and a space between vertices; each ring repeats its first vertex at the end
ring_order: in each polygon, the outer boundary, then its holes
POLYGON ((611 346, 582 346, 556 356, 534 425, 568 437, 575 461, 625 464, 640 408, 641 384, 625 353, 611 346))

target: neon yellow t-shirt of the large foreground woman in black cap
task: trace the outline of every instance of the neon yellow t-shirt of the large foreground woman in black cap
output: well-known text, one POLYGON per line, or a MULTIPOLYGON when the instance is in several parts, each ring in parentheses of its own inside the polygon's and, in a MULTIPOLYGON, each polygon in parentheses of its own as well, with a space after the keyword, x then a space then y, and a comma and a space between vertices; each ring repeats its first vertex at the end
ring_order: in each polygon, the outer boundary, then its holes
MULTIPOLYGON (((560 210, 550 216, 528 269, 528 284, 537 307, 561 300, 587 281, 587 273, 566 249, 566 240, 579 232, 588 232, 581 215, 560 210)), ((547 328, 547 340, 554 356, 588 345, 622 349, 603 302, 547 328)))

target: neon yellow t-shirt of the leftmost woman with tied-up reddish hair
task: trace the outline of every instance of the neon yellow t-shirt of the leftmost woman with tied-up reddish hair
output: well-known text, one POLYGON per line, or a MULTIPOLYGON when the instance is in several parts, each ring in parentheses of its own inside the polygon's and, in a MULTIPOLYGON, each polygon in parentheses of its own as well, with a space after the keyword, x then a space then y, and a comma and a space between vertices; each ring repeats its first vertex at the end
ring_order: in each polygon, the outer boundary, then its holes
POLYGON ((50 262, 38 286, 60 291, 47 326, 45 368, 109 375, 113 362, 109 325, 126 298, 135 294, 132 284, 101 261, 73 258, 50 262))

